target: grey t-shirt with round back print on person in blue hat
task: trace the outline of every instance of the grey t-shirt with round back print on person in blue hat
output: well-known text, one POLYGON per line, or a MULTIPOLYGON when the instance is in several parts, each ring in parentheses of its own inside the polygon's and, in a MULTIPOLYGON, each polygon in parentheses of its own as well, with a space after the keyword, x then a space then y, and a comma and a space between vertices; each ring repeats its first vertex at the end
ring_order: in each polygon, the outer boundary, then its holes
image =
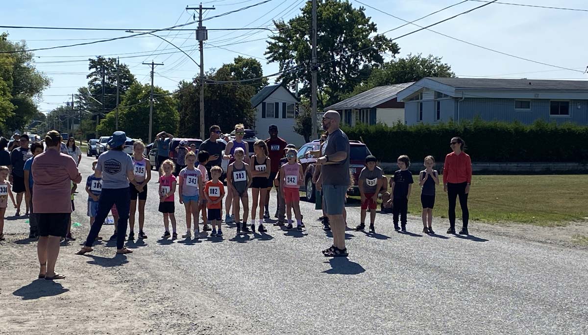
POLYGON ((133 170, 131 156, 118 150, 108 150, 98 157, 96 169, 102 171, 103 189, 129 187, 128 172, 133 170))

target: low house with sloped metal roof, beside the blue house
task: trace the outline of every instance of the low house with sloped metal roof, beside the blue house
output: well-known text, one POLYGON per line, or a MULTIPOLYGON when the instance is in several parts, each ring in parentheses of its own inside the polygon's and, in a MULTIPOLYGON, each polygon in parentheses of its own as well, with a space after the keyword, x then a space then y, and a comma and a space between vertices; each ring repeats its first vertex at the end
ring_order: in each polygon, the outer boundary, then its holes
POLYGON ((359 123, 385 123, 389 126, 399 121, 404 123, 404 103, 396 100, 396 94, 410 85, 412 83, 377 86, 328 106, 325 110, 338 111, 343 124, 350 126, 359 123))

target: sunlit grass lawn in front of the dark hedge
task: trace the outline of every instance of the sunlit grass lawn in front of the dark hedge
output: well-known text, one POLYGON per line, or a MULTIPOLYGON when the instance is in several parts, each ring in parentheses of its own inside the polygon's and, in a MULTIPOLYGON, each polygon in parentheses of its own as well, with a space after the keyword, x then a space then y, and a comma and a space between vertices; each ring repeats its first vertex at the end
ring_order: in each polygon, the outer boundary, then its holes
MULTIPOLYGON (((420 215, 419 176, 413 177, 409 213, 420 215)), ((586 220, 588 183, 584 180, 587 178, 588 175, 474 176, 467 202, 470 219, 537 226, 561 226, 570 221, 586 220)), ((359 196, 351 198, 359 200, 359 196)), ((459 225, 459 201, 457 204, 459 225)), ((437 186, 433 215, 447 217, 447 194, 442 185, 437 186)))

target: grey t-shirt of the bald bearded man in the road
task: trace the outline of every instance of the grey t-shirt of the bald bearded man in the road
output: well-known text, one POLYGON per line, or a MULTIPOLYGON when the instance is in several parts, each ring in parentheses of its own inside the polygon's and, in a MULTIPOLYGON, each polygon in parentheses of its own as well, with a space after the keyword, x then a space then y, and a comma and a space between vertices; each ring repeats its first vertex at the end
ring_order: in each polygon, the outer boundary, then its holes
POLYGON ((325 144, 325 155, 334 155, 336 152, 344 151, 347 158, 336 164, 329 164, 322 167, 321 175, 323 185, 349 185, 349 139, 341 130, 337 129, 329 134, 325 144))

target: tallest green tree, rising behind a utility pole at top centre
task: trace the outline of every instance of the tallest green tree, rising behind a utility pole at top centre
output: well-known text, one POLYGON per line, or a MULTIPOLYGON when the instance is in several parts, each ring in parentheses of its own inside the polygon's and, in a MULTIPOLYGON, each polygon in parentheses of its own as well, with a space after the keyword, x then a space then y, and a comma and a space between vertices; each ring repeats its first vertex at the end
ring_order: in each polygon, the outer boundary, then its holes
MULTIPOLYGON (((311 82, 311 1, 300 15, 288 22, 274 22, 279 33, 270 37, 265 54, 286 71, 278 80, 294 88, 302 82, 301 95, 310 96, 311 82), (290 71, 291 70, 291 71, 290 71)), ((381 65, 384 55, 396 55, 400 48, 377 32, 376 24, 365 15, 365 8, 353 8, 348 0, 318 0, 317 58, 319 101, 338 102, 369 75, 370 66, 381 65)))

